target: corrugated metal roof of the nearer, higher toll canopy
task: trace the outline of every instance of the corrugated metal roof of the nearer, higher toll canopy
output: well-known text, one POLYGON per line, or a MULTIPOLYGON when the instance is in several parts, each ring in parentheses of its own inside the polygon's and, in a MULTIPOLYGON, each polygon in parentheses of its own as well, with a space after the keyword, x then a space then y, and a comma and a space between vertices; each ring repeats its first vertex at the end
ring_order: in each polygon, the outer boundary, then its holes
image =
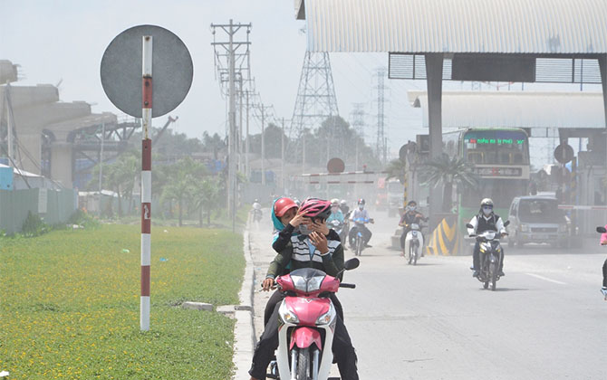
POLYGON ((605 0, 304 0, 310 52, 607 52, 605 0))

